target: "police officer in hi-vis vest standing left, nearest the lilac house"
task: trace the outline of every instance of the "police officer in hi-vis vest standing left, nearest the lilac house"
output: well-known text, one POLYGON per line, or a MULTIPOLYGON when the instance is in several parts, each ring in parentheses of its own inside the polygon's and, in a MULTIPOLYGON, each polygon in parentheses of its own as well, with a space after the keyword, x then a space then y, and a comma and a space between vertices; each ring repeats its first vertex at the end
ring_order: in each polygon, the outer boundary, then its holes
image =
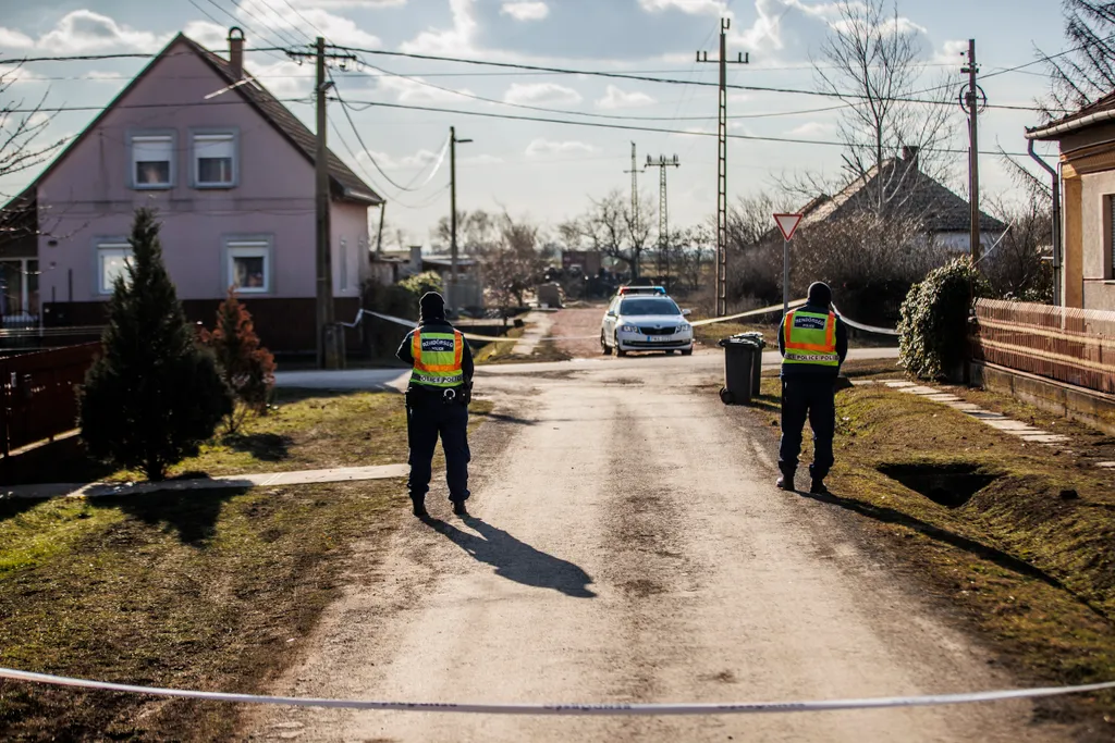
POLYGON ((396 355, 414 365, 407 387, 407 440, 410 479, 407 489, 415 516, 426 514, 426 493, 438 436, 445 450, 453 512, 466 516, 468 500, 468 402, 473 389, 473 353, 464 336, 445 319, 445 299, 436 292, 419 301, 418 327, 396 355))

